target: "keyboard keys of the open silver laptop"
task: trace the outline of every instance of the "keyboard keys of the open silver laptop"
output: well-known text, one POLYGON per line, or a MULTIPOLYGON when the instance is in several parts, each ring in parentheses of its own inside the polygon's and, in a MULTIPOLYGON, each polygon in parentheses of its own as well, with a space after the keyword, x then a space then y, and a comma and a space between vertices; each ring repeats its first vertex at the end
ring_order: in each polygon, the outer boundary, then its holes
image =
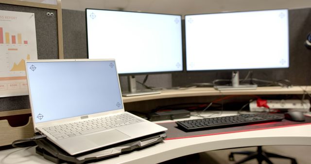
POLYGON ((81 134, 86 134, 94 131, 103 131, 111 128, 121 127, 125 125, 135 124, 142 120, 128 115, 126 113, 79 121, 69 124, 57 125, 48 128, 43 128, 56 139, 63 139, 81 134))

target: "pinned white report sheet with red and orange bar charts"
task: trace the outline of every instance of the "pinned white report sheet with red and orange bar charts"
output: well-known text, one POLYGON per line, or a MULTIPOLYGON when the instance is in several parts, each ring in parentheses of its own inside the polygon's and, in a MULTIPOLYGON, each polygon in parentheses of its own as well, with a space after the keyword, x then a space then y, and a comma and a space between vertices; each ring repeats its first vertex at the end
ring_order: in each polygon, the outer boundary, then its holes
POLYGON ((28 95, 25 60, 36 60, 35 14, 0 10, 0 97, 28 95))

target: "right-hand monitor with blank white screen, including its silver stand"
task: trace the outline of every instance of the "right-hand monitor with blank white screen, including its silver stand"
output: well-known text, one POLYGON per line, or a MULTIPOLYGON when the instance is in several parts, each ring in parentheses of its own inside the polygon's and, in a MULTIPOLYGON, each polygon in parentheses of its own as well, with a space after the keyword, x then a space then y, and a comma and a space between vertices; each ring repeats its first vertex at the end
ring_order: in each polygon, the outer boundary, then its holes
POLYGON ((229 86, 239 84, 239 70, 288 68, 288 10, 262 10, 185 16, 186 70, 231 70, 229 86))

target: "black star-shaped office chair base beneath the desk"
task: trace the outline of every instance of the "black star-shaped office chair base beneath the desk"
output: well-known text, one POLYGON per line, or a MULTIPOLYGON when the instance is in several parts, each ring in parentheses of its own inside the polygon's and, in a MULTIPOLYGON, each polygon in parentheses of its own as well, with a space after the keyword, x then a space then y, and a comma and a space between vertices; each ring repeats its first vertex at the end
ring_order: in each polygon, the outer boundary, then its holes
POLYGON ((282 158, 282 159, 289 159, 291 160, 292 164, 297 164, 297 161, 294 158, 291 157, 285 157, 282 155, 277 155, 274 153, 269 153, 269 152, 265 152, 262 150, 262 146, 258 146, 257 147, 257 151, 240 151, 240 152, 231 152, 229 155, 229 161, 234 161, 234 154, 243 154, 243 155, 248 155, 247 157, 245 157, 244 159, 236 162, 235 164, 242 164, 246 161, 250 161, 252 159, 257 159, 258 164, 261 164, 262 161, 265 161, 268 164, 273 164, 270 160, 269 157, 271 158, 282 158))

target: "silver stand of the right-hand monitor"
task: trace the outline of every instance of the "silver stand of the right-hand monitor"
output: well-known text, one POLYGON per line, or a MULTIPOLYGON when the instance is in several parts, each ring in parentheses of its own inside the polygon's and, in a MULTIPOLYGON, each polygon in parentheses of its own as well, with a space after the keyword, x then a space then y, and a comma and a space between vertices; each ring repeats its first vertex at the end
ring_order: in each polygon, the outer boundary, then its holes
POLYGON ((215 85, 216 90, 244 90, 257 89, 256 84, 240 84, 239 71, 232 71, 232 85, 215 85))

